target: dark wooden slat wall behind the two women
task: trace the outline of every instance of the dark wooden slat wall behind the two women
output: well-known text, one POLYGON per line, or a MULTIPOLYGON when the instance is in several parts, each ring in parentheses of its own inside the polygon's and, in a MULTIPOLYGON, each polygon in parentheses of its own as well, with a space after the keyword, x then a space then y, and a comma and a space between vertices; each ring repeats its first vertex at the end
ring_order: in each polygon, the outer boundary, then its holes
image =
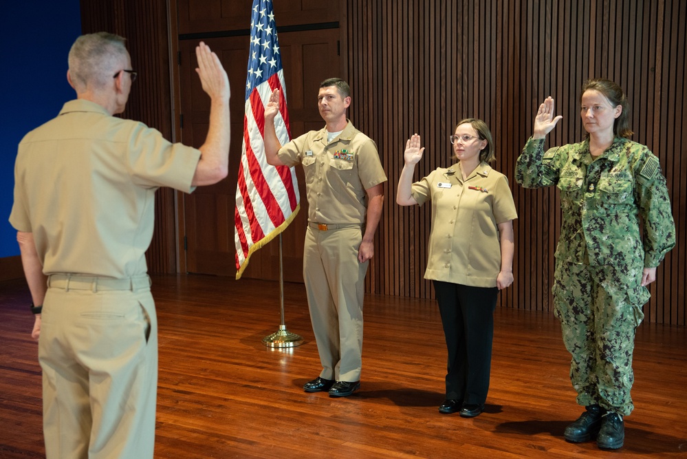
POLYGON ((560 200, 555 189, 521 189, 514 162, 538 104, 549 95, 563 115, 549 145, 582 140, 580 86, 602 76, 628 94, 633 140, 659 157, 677 224, 677 246, 651 286, 646 320, 685 325, 686 9, 679 0, 348 1, 351 118, 378 142, 389 176, 369 290, 433 297, 423 279, 428 206, 395 204, 404 142, 414 132, 422 136, 419 179, 450 164, 448 135, 459 119, 475 116, 492 129, 495 167, 508 176, 519 209, 516 281, 502 292, 501 306, 552 311, 560 200))

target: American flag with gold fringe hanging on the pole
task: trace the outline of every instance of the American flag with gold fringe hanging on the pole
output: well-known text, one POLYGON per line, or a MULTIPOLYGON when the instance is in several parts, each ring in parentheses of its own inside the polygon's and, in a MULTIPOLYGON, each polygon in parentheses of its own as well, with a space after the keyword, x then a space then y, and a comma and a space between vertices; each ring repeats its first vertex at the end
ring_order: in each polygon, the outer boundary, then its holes
POLYGON ((271 0, 254 0, 250 19, 250 54, 239 182, 236 187, 236 278, 240 279, 255 250, 279 235, 300 208, 296 171, 265 161, 265 103, 274 89, 281 94, 281 113, 274 118, 281 145, 291 140, 284 71, 271 0))

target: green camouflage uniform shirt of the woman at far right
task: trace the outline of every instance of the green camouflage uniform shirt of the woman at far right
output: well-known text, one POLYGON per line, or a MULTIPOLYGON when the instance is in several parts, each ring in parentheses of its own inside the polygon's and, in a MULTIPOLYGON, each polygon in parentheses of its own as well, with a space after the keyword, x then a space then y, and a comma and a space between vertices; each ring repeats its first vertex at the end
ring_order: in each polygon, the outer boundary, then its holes
POLYGON ((544 153, 544 140, 530 138, 516 180, 525 188, 560 190, 560 261, 624 269, 643 259, 644 268, 654 268, 675 246, 666 179, 658 158, 637 142, 616 137, 593 158, 588 139, 544 153))

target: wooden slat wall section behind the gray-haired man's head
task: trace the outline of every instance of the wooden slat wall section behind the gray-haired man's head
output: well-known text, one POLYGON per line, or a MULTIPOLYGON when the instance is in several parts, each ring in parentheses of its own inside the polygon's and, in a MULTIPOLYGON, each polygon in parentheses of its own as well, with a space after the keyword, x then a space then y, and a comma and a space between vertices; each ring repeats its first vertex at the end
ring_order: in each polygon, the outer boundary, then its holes
MULTIPOLYGON (((122 118, 140 120, 173 140, 166 0, 82 0, 80 6, 83 33, 106 31, 127 39, 138 79, 122 118)), ((155 232, 146 252, 151 273, 177 272, 175 231, 175 193, 160 189, 155 195, 155 232)))

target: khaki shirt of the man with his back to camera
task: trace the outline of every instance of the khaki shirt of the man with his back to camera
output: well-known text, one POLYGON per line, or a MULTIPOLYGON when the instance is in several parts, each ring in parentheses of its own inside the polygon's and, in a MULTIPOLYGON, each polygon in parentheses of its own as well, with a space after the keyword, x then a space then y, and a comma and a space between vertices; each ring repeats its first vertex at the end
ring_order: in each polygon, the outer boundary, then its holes
POLYGON ((46 275, 144 275, 155 189, 192 191, 199 158, 141 122, 69 101, 19 144, 10 223, 33 233, 46 275))

